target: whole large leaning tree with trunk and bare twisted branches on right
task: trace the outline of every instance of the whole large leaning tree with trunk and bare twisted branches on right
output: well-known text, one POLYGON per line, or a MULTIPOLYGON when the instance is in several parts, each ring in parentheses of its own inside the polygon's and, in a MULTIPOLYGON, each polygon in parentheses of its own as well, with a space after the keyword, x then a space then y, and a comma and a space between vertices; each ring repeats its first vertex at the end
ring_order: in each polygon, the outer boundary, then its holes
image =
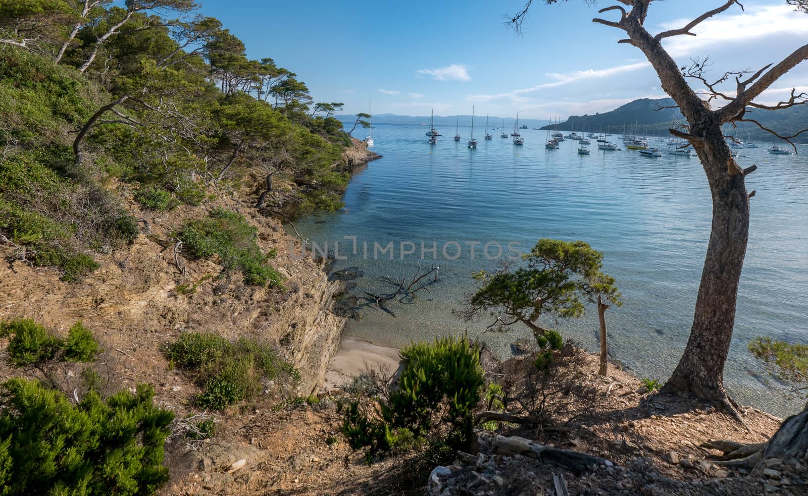
MULTIPOLYGON (((690 67, 680 67, 663 47, 663 40, 672 36, 696 36, 693 29, 705 20, 729 10, 733 6, 743 6, 737 0, 727 0, 710 11, 699 15, 684 26, 652 35, 645 27, 646 15, 654 0, 615 0, 622 5, 612 5, 600 9, 599 13, 615 12, 616 20, 592 19, 595 23, 615 27, 627 36, 618 43, 632 44, 642 50, 654 67, 662 88, 675 100, 682 115, 687 120, 684 129, 670 129, 671 134, 687 140, 696 150, 704 167, 713 196, 713 222, 705 265, 701 273, 701 285, 696 299, 690 338, 684 355, 676 366, 671 378, 663 388, 663 393, 687 393, 701 399, 724 406, 735 418, 743 422, 737 405, 727 395, 723 385, 723 372, 726 357, 730 350, 730 340, 735 319, 735 303, 738 285, 746 255, 749 237, 749 199, 755 194, 747 191, 745 178, 756 166, 742 169, 732 158, 726 144, 722 126, 738 122, 751 122, 774 136, 789 141, 800 132, 782 136, 765 128, 753 118, 754 111, 782 110, 808 103, 808 94, 791 91, 789 99, 767 105, 755 99, 774 82, 802 61, 808 59, 808 44, 789 53, 777 63, 765 65, 760 70, 727 72, 716 80, 707 76, 709 63, 693 61, 690 67), (707 96, 702 99, 688 85, 688 78, 705 86, 707 96), (713 100, 722 103, 713 108, 713 100)), ((558 0, 545 0, 556 3, 558 0)), ((520 30, 532 0, 528 0, 523 11, 511 17, 510 24, 520 30)), ((594 0, 587 0, 593 4, 594 0)), ((797 11, 808 13, 808 0, 786 0, 797 11)), ((793 143, 792 143, 793 145, 793 143)), ((796 150, 796 147, 794 147, 796 150)), ((768 446, 781 445, 782 436, 793 437, 803 429, 792 428, 808 422, 808 408, 801 414, 783 422, 781 430, 767 443, 768 446)), ((797 435, 799 437, 799 435, 797 435)), ((793 444, 792 444, 793 445, 793 444)), ((808 436, 802 435, 802 452, 808 450, 808 436)), ((776 456, 776 450, 766 450, 765 456, 776 456)))

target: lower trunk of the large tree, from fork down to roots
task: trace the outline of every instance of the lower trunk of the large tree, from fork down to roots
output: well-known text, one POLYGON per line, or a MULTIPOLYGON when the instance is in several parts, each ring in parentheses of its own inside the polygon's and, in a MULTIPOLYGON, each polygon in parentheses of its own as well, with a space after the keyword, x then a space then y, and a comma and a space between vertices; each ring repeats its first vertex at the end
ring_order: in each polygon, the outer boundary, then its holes
POLYGON ((749 197, 743 170, 732 159, 718 121, 691 132, 704 137, 694 148, 713 196, 713 223, 688 345, 663 393, 692 393, 734 412, 724 389, 723 370, 747 251, 749 197))

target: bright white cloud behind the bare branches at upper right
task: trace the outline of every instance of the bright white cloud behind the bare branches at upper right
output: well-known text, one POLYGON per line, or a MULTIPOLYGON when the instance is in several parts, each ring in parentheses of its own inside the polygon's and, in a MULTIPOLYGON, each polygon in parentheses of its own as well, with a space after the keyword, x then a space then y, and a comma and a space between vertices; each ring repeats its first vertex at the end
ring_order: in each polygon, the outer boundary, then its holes
MULTIPOLYGON (((705 48, 726 48, 772 36, 804 40, 808 36, 806 15, 795 12, 793 6, 748 6, 747 11, 719 14, 692 29, 696 36, 673 36, 663 41, 672 57, 696 57, 705 48)), ((678 29, 692 19, 677 19, 663 23, 660 31, 678 29)), ((802 44, 802 43, 801 43, 802 44)), ((774 48, 774 47, 772 47, 774 48)), ((785 53, 784 53, 785 55, 785 53)))

